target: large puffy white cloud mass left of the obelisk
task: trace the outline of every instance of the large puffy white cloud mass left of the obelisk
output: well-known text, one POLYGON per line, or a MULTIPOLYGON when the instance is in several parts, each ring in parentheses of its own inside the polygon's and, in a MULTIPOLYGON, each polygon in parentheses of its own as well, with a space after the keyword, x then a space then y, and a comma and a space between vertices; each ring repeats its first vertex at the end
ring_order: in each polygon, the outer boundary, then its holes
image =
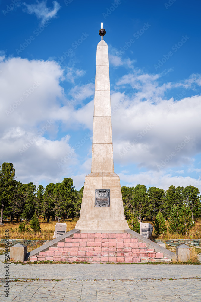
POLYGON ((61 181, 77 164, 70 136, 57 138, 74 112, 61 106, 63 71, 54 61, 21 58, 4 59, 0 69, 0 161, 12 162, 22 182, 61 181), (69 153, 71 160, 58 165, 69 153))

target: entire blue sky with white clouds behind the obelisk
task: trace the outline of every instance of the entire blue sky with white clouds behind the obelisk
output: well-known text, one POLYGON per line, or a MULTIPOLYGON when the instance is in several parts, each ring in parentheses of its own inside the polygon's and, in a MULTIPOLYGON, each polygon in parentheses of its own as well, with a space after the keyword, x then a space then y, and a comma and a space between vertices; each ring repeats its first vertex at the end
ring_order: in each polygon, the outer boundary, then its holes
POLYGON ((90 173, 96 45, 109 46, 121 185, 201 189, 199 1, 0 2, 0 156, 46 186, 90 173))

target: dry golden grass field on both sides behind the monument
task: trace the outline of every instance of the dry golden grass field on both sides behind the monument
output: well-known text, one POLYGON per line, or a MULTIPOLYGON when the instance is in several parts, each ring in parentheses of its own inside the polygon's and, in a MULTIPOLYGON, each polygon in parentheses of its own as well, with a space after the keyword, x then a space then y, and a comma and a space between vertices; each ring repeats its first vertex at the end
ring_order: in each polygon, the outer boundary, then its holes
MULTIPOLYGON (((41 233, 20 233, 17 231, 12 231, 19 226, 20 222, 16 221, 4 221, 4 226, 0 226, 0 238, 4 238, 5 229, 9 229, 9 238, 10 239, 41 239, 41 240, 51 240, 55 230, 55 224, 57 221, 46 222, 43 218, 40 220, 41 233)), ((71 219, 62 221, 62 223, 67 224, 67 232, 74 229, 77 220, 72 221, 71 219)), ((153 224, 152 221, 146 221, 147 223, 153 224)), ((167 227, 169 226, 169 221, 166 221, 167 227)), ((29 225, 29 223, 27 223, 29 225)), ((156 239, 154 232, 152 235, 153 239, 156 239)), ((185 236, 183 235, 173 235, 167 230, 166 235, 160 235, 157 239, 201 239, 201 221, 196 221, 195 226, 189 231, 185 236)))

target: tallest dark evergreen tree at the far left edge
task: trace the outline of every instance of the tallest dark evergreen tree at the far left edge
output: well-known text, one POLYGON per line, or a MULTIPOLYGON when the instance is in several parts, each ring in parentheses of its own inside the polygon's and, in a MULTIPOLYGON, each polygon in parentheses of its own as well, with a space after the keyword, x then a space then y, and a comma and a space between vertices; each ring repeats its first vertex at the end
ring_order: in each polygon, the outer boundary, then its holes
POLYGON ((2 225, 4 210, 10 207, 10 200, 13 199, 17 181, 15 180, 15 169, 11 162, 4 162, 0 166, 0 204, 1 204, 1 219, 2 225))

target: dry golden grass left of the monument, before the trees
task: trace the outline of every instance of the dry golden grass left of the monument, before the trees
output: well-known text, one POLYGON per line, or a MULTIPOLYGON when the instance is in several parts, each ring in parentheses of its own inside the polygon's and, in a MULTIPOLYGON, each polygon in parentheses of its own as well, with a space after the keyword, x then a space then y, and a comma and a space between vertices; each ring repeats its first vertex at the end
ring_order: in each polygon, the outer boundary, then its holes
MULTIPOLYGON (((10 239, 40 239, 40 240, 51 240, 54 235, 55 224, 57 221, 46 222, 43 219, 40 219, 40 233, 20 233, 17 231, 11 231, 11 228, 14 230, 19 226, 20 222, 16 221, 6 221, 4 222, 4 226, 0 227, 0 238, 5 238, 5 230, 9 230, 9 238, 10 239)), ((66 220, 65 222, 61 220, 62 223, 67 224, 67 232, 74 229, 77 220, 66 220)), ((29 225, 29 223, 27 223, 29 225)))

